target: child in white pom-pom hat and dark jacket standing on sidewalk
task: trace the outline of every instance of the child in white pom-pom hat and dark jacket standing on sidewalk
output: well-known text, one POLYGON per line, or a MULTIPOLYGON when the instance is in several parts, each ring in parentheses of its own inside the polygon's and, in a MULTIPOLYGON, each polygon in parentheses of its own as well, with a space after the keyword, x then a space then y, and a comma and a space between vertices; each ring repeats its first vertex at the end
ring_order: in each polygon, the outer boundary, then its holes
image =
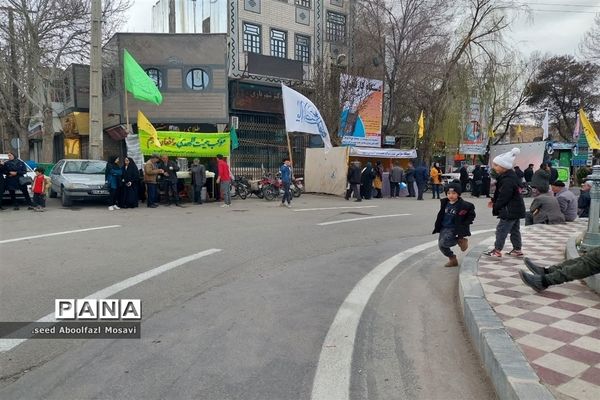
POLYGON ((498 178, 494 197, 488 203, 488 207, 492 209, 492 215, 497 216, 500 221, 496 227, 494 248, 483 253, 491 257, 502 257, 502 249, 509 234, 513 248, 506 254, 523 257, 520 219, 525 218, 525 203, 520 192, 521 180, 513 170, 515 157, 519 152, 515 147, 496 156, 492 161, 492 168, 498 174, 498 178))

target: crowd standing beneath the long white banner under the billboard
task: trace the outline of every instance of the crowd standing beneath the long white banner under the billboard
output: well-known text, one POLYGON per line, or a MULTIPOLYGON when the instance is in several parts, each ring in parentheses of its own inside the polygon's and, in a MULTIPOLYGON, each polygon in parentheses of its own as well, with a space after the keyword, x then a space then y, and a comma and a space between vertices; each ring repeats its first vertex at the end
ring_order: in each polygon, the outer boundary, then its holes
MULTIPOLYGON (((437 179, 441 188, 441 170, 439 170, 439 175, 437 179)), ((354 201, 383 198, 383 179, 384 168, 381 161, 377 161, 375 167, 371 162, 367 162, 364 167, 362 167, 360 161, 351 162, 346 174, 346 200, 350 200, 352 196, 355 198, 354 201)), ((409 162, 407 169, 404 170, 399 163, 394 163, 388 175, 390 198, 400 197, 401 190, 406 189, 408 191, 406 197, 416 197, 417 200, 423 200, 423 193, 429 179, 430 174, 424 164, 420 164, 415 168, 413 163, 409 162)))

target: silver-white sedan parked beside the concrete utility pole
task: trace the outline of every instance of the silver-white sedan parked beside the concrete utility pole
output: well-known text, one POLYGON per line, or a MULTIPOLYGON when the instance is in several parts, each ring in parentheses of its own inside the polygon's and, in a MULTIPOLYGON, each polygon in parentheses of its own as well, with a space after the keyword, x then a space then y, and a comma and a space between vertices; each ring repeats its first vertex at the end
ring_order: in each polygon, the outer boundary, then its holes
POLYGON ((102 160, 60 160, 50 174, 50 197, 60 196, 64 207, 73 200, 108 200, 105 170, 106 161, 102 160))

